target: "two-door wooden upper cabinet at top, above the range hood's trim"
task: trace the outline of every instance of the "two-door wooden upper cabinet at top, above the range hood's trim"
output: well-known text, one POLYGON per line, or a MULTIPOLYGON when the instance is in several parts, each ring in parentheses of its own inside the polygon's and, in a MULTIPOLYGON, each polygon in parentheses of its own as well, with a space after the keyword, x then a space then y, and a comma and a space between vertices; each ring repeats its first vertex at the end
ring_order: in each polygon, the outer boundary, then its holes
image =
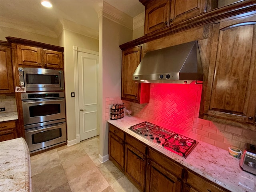
POLYGON ((140 2, 145 6, 144 34, 180 24, 217 7, 216 1, 207 0, 140 0, 140 2))

